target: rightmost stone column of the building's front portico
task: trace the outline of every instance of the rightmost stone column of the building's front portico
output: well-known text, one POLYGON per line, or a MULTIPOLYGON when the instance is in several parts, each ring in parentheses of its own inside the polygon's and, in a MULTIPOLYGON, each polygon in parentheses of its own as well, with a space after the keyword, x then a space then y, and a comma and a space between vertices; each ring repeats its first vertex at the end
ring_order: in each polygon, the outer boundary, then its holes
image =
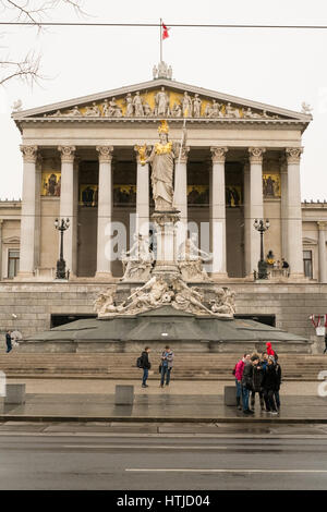
POLYGON ((286 148, 288 161, 287 233, 291 278, 303 278, 302 210, 300 191, 301 147, 286 148))

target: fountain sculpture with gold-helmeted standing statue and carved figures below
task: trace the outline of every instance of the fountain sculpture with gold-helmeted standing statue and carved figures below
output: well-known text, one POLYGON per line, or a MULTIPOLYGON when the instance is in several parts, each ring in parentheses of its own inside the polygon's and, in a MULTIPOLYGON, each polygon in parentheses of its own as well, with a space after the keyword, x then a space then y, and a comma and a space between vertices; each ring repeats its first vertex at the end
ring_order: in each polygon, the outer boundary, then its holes
POLYGON ((171 306, 194 315, 232 318, 235 313, 234 293, 215 285, 214 282, 210 287, 210 280, 203 267, 210 256, 197 247, 195 236, 186 237, 179 251, 171 251, 175 245, 174 235, 180 220, 180 212, 173 206, 175 154, 168 137, 167 121, 161 121, 158 132, 160 142, 155 144, 149 157, 146 144, 137 146, 136 149, 141 163, 149 162, 153 167, 153 220, 157 237, 160 239, 161 253, 154 254, 148 236, 135 234, 131 249, 121 255, 124 270, 121 283, 131 282, 132 287, 133 282, 141 281, 145 284, 136 287, 121 303, 117 298, 120 283, 110 287, 97 297, 95 309, 99 318, 137 315, 162 306, 171 306), (168 253, 162 252, 165 246, 170 246, 168 253), (190 281, 198 282, 198 285, 190 287, 190 281), (201 287, 204 282, 205 290, 201 287))

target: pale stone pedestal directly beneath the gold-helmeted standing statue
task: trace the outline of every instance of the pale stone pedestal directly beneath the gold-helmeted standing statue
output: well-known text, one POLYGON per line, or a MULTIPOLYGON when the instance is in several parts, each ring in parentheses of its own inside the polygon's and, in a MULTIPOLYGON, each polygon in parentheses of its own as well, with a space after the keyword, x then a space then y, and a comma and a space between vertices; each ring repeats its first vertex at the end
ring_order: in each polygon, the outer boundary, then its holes
POLYGON ((157 233, 157 255, 153 273, 180 273, 178 268, 177 223, 180 212, 155 211, 153 214, 157 233))

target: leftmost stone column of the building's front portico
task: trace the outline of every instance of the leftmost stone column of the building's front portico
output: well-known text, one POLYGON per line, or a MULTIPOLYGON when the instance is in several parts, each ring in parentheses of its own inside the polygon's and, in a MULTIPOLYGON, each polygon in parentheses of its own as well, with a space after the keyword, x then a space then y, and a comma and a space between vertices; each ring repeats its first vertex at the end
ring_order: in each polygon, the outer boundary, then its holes
POLYGON ((37 146, 21 146, 23 154, 23 197, 21 217, 21 249, 20 249, 20 272, 17 279, 31 279, 35 272, 35 212, 36 212, 36 190, 37 173, 36 159, 37 146))

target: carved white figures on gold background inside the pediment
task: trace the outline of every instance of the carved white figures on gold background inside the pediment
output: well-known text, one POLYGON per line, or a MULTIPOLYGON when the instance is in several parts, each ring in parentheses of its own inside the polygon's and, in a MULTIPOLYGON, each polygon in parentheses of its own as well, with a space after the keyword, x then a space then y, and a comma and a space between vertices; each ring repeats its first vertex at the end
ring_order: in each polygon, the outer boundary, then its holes
POLYGON ((269 120, 283 119, 267 110, 244 107, 230 101, 191 94, 158 89, 128 93, 123 97, 111 97, 93 101, 86 106, 74 106, 44 114, 48 118, 193 118, 193 119, 234 119, 269 120))

